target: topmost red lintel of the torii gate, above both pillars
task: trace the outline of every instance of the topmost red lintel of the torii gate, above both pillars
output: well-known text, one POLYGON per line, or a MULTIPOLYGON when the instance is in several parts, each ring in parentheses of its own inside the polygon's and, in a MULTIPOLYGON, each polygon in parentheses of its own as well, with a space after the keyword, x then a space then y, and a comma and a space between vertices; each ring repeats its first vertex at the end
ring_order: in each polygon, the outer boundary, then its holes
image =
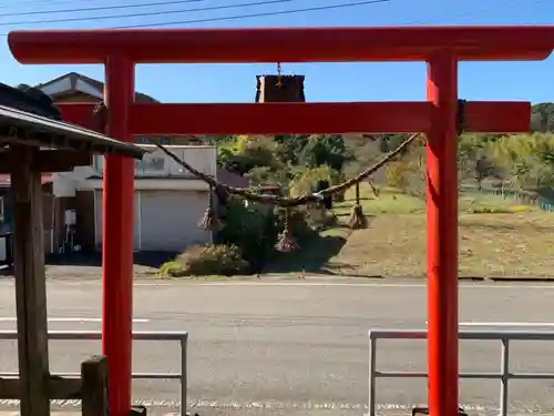
POLYGON ((8 43, 21 63, 427 61, 443 49, 459 60, 543 60, 554 26, 13 31, 8 43))

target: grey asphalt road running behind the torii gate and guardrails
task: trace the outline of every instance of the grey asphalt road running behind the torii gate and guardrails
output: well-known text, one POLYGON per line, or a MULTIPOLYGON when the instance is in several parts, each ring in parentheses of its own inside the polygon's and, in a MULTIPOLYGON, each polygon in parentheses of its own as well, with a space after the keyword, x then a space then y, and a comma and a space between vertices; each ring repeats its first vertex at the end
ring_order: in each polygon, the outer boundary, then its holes
MULTIPOLYGON (((331 408, 362 414, 368 402, 368 329, 420 329, 427 319, 425 287, 418 281, 145 282, 135 286, 135 329, 188 331, 189 402, 219 413, 265 408, 311 414, 331 408)), ((50 281, 48 287, 50 329, 100 328, 99 282, 50 281)), ((16 327, 14 310, 12 283, 0 282, 0 329, 16 327)), ((554 331, 553 313, 554 285, 464 284, 461 288, 460 321, 466 328, 531 325, 535 331, 554 331)), ((98 343, 52 342, 51 368, 79 372, 81 359, 99 352, 98 343)), ((554 343, 514 343, 511 356, 512 371, 554 373, 554 343)), ((497 372, 500 361, 497 342, 462 343, 462 371, 497 372)), ((424 342, 382 342, 378 366, 423 372, 424 342)), ((14 343, 1 342, 1 371, 16 367, 14 343)), ((176 344, 135 344, 136 372, 178 368, 176 344)), ((462 382, 462 404, 479 413, 494 412, 497 383, 462 382)), ((173 409, 178 405, 178 384, 136 382, 133 395, 173 409)), ((377 399, 381 410, 406 414, 407 407, 425 403, 425 383, 380 379, 377 399)), ((510 400, 516 413, 551 413, 554 381, 512 382, 510 400)))

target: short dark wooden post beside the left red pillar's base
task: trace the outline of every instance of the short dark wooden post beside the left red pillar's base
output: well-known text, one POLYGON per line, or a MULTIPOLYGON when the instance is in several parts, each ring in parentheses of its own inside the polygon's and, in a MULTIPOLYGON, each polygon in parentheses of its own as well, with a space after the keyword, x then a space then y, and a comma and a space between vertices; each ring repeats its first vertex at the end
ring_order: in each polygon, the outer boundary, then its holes
POLYGON ((107 416, 107 357, 96 355, 81 364, 81 412, 83 416, 107 416))

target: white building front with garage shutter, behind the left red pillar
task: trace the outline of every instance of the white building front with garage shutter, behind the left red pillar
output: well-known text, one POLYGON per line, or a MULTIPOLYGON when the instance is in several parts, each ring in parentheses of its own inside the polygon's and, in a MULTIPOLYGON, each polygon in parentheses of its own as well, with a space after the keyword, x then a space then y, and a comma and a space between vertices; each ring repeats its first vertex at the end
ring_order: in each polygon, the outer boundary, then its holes
MULTIPOLYGON (((178 163, 155 146, 135 164, 134 248, 181 251, 187 244, 208 243, 212 233, 197 223, 207 207, 209 186, 183 171, 178 163)), ((198 171, 215 177, 214 146, 168 146, 198 171)), ((92 166, 59 173, 53 189, 57 196, 74 196, 75 191, 94 191, 96 246, 102 243, 102 172, 103 156, 92 166)))

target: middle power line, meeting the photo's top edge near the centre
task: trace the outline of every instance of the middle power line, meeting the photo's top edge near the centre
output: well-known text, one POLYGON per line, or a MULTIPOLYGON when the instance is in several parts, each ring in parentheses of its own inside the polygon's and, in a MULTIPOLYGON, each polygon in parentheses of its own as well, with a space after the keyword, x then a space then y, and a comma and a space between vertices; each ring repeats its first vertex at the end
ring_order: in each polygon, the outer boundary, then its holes
MULTIPOLYGON (((195 0, 202 1, 202 0, 195 0)), ((191 13, 195 11, 212 11, 212 10, 224 10, 224 9, 236 9, 236 8, 247 8, 247 7, 256 7, 256 6, 266 6, 266 4, 280 4, 287 3, 291 1, 298 0, 264 0, 264 1, 255 1, 250 3, 238 3, 238 4, 225 4, 225 6, 212 6, 204 8, 192 8, 192 9, 181 9, 181 10, 158 10, 158 11, 148 11, 142 13, 125 13, 125 14, 109 14, 109 16, 92 16, 85 18, 68 18, 68 19, 49 19, 49 20, 31 20, 31 21, 19 21, 19 22, 0 22, 0 27, 2 26, 30 26, 30 24, 44 24, 44 23, 64 23, 64 22, 79 22, 79 21, 90 21, 90 20, 105 20, 105 19, 126 19, 126 18, 141 18, 146 16, 162 16, 162 14, 174 14, 174 13, 191 13)), ((166 3, 160 4, 170 4, 174 2, 185 2, 181 1, 168 1, 166 3)), ((188 2, 188 1, 186 1, 188 2)), ((0 14, 2 16, 2 14, 0 14)))

